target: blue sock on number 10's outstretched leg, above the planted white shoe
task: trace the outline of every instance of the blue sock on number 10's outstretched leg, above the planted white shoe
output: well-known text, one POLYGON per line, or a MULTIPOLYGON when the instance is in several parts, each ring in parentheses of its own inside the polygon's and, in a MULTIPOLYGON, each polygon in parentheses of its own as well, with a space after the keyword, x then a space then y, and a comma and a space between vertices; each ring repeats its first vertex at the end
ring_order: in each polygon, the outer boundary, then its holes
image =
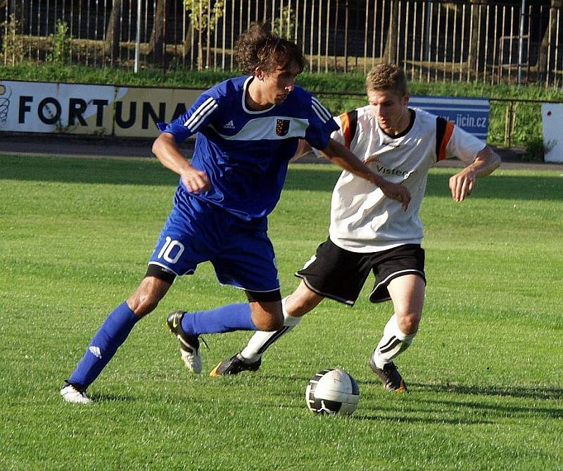
POLYGON ((94 335, 68 382, 84 389, 89 387, 127 339, 139 319, 125 302, 115 308, 94 335))

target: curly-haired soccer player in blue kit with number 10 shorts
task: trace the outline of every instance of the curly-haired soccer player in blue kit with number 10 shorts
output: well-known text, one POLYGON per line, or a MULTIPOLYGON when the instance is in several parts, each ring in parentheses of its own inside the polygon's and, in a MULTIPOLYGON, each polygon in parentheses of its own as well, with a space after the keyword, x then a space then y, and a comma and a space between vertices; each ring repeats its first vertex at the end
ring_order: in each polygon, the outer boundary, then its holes
POLYGON ((253 23, 241 34, 237 59, 243 73, 201 94, 182 116, 160 123, 153 153, 180 179, 174 206, 148 261, 144 279, 94 335, 61 389, 70 403, 91 403, 86 390, 134 325, 156 308, 178 275, 213 263, 217 280, 245 291, 248 303, 186 313, 167 325, 179 340, 187 368, 199 373, 200 334, 234 330, 276 331, 283 326, 267 215, 274 209, 298 140, 305 139, 343 169, 377 185, 406 209, 410 194, 376 175, 330 138, 331 114, 294 84, 305 60, 296 44, 253 23), (191 163, 178 143, 197 133, 191 163))

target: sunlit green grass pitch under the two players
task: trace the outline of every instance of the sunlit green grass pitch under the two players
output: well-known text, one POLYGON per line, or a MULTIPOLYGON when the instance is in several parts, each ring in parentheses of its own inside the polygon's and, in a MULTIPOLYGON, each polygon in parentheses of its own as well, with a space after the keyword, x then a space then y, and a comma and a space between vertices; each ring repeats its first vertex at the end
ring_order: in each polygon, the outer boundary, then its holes
MULTIPOLYGON (((391 304, 325 301, 262 369, 205 373, 248 333, 208 336, 191 376, 167 313, 243 301, 210 265, 177 280, 91 386, 63 379, 144 275, 177 178, 157 161, 0 156, 0 470, 563 469, 563 172, 501 170, 457 204, 429 175, 421 330, 398 360, 410 394, 367 367, 391 304), (308 379, 348 370, 350 417, 305 407, 308 379)), ((285 294, 327 236, 338 171, 293 165, 270 236, 285 294)))

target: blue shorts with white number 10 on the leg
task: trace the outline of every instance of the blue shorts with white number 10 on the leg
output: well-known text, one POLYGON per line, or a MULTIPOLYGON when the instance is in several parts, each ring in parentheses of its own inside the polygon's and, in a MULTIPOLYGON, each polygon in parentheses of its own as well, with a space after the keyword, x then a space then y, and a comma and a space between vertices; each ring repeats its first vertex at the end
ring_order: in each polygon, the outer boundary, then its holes
POLYGON ((173 275, 192 275, 210 261, 221 284, 246 291, 279 289, 274 247, 266 221, 246 222, 177 189, 175 205, 148 265, 173 275))

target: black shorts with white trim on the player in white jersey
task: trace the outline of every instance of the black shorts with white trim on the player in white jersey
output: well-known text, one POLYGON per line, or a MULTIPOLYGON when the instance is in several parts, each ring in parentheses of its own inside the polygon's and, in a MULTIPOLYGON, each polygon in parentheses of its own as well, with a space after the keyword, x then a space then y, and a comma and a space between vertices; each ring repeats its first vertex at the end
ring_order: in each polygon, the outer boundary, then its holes
POLYGON ((414 273, 426 283, 424 249, 418 244, 405 244, 381 252, 358 253, 341 249, 327 239, 295 275, 315 293, 353 306, 370 270, 375 283, 369 301, 388 301, 391 296, 387 285, 393 278, 414 273))

